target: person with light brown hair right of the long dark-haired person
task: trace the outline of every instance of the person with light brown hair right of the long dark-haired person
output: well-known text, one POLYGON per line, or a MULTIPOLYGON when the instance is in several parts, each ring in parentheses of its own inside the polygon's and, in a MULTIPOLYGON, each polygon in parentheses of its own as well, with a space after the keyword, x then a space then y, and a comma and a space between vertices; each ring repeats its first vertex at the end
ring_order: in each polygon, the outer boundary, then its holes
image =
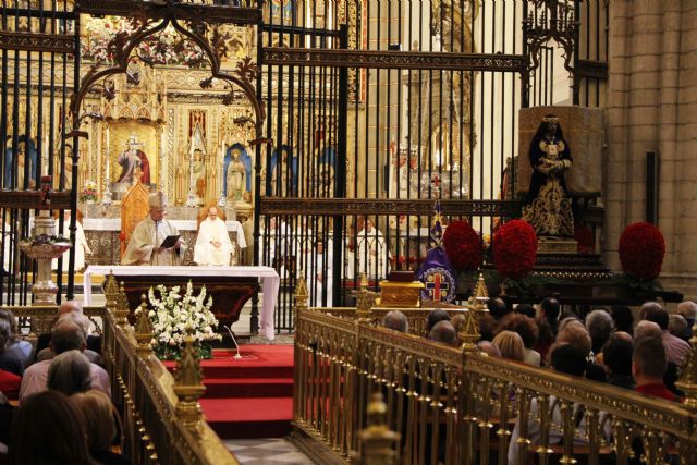
MULTIPOLYGON (((99 391, 87 391, 70 397, 82 413, 87 428, 87 446, 94 460, 105 465, 127 465, 131 462, 121 454, 111 452, 114 438, 122 431, 121 419, 109 397, 99 391)), ((121 442, 121 438, 119 443, 121 442)))

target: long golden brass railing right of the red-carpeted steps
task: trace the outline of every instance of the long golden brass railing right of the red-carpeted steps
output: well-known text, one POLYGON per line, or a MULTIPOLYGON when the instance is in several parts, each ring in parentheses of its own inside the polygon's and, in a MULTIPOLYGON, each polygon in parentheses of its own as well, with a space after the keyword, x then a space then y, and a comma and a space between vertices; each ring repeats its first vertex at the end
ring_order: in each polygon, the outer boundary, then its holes
POLYGON ((297 302, 294 425, 337 463, 353 463, 375 392, 384 397, 386 425, 401 435, 387 446, 402 464, 695 461, 697 351, 680 404, 379 328, 371 313, 348 317, 310 309, 302 295, 297 302))

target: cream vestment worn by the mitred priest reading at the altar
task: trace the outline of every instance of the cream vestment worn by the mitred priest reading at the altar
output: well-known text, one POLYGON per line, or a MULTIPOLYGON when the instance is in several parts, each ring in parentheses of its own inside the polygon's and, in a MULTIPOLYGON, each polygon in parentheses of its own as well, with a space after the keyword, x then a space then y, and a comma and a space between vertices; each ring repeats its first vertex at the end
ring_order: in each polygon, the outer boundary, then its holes
POLYGON ((185 244, 181 244, 179 250, 174 248, 155 250, 168 235, 176 234, 179 231, 170 221, 162 220, 156 224, 152 218, 147 216, 133 230, 121 265, 181 265, 186 249, 185 244))

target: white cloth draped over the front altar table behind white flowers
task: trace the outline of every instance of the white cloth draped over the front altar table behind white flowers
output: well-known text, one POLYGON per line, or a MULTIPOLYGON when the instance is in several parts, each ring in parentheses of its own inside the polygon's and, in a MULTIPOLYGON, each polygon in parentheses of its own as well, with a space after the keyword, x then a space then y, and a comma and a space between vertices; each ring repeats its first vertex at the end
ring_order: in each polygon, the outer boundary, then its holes
POLYGON ((115 266, 90 265, 83 273, 83 298, 85 305, 91 305, 91 276, 109 274, 113 271, 117 276, 169 276, 169 277, 256 277, 261 281, 261 319, 259 332, 273 340, 276 331, 273 327, 273 311, 279 295, 281 279, 271 267, 150 267, 150 266, 115 266))

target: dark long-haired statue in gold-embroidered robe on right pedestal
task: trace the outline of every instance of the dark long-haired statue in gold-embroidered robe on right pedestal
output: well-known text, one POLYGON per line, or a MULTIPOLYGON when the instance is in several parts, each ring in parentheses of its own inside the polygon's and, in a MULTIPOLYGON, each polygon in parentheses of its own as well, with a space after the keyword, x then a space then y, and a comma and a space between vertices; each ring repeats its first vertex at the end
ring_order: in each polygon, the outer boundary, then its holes
POLYGON ((572 167, 571 149, 555 115, 542 118, 530 143, 529 157, 533 178, 523 219, 538 236, 573 237, 574 217, 565 181, 572 167))

